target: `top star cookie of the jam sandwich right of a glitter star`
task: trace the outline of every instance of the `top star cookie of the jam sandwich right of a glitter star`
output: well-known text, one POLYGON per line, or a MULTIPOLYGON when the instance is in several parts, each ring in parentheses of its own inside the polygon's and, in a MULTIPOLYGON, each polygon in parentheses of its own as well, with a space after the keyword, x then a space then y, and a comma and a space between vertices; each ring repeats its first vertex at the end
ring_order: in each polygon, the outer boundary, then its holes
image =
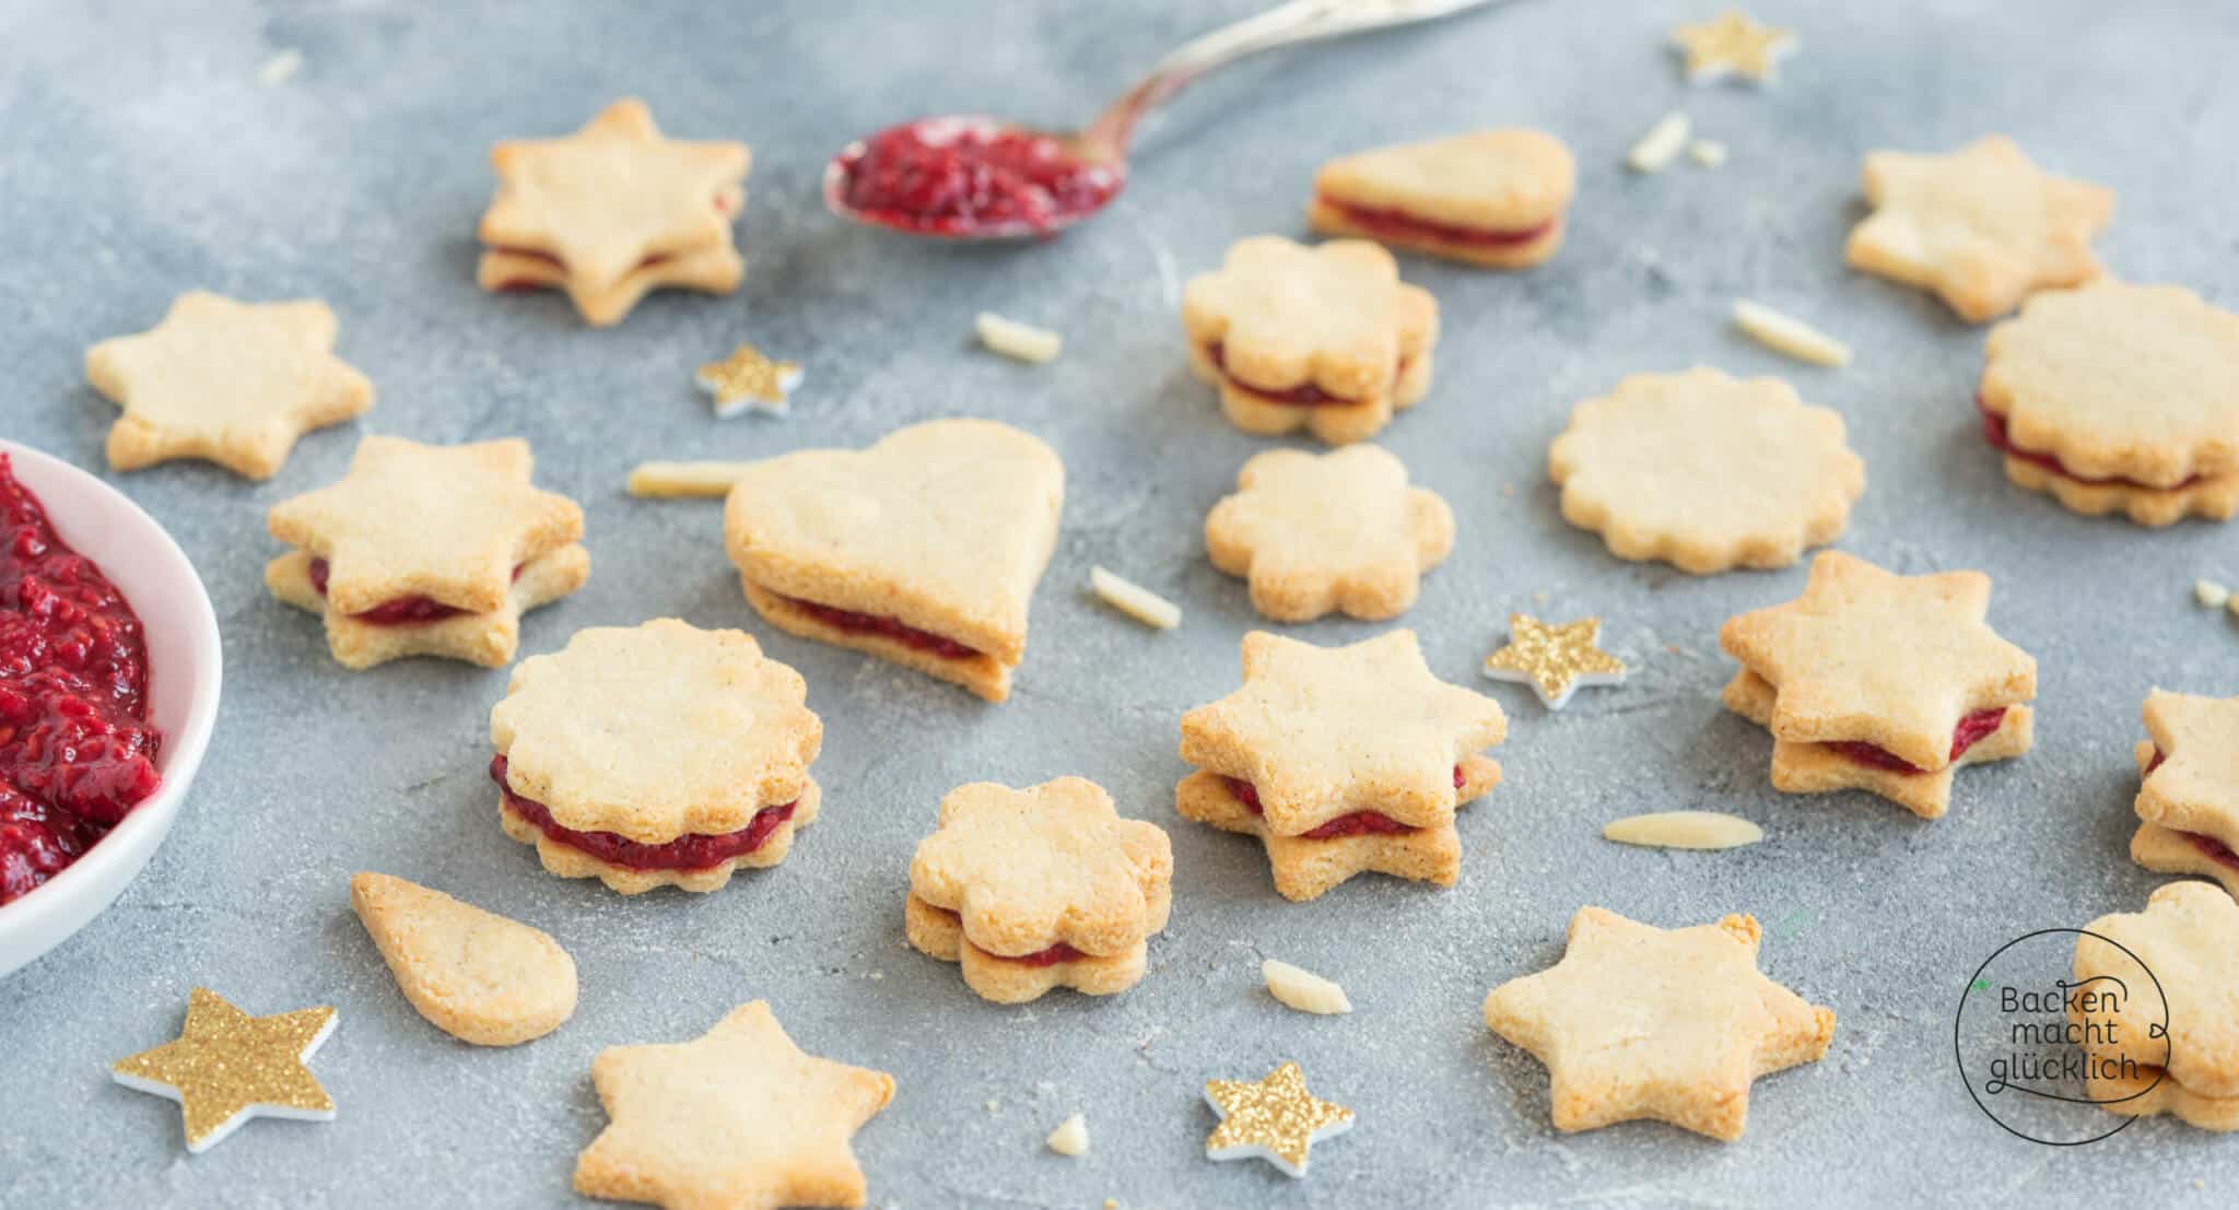
POLYGON ((2037 696, 2037 662, 1988 611, 1977 570, 1894 575, 1823 550, 1800 597, 1729 617, 1717 644, 1780 691, 1776 740, 1870 743, 1934 772, 1961 718, 2037 696))

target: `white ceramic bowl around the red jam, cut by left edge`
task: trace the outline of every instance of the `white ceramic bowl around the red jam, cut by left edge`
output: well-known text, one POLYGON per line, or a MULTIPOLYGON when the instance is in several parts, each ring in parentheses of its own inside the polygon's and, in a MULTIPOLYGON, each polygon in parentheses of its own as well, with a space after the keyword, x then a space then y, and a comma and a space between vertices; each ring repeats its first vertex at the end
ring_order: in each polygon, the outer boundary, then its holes
POLYGON ((148 635, 148 718, 163 731, 163 785, 132 807, 76 863, 13 904, 0 906, 0 977, 63 944, 123 895, 179 819, 217 720, 217 615, 195 564, 152 517, 116 488, 13 441, 0 441, 16 479, 47 505, 47 519, 132 604, 148 635))

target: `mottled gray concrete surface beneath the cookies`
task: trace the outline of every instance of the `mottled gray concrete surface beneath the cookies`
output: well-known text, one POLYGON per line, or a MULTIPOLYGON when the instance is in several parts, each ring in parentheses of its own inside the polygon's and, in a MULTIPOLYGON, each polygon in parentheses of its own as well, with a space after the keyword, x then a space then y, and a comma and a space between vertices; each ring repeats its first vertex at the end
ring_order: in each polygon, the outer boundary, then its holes
POLYGON ((2004 130, 2120 190, 2102 239, 2120 273, 2239 302, 2235 9, 1780 2, 1764 16, 1800 27, 1805 49, 1758 94, 1677 76, 1666 27, 1717 4, 1523 2, 1205 83, 1146 132, 1120 206, 1050 246, 909 244, 817 206, 817 170, 853 134, 940 110, 1081 119, 1249 9, 0 4, 0 432, 101 470, 114 409, 83 385, 83 349, 195 286, 327 297, 340 351, 381 389, 363 423, 309 436, 271 483, 204 465, 110 476, 202 568, 228 689, 148 872, 0 984, 0 1203, 564 1206, 573 1154, 602 1125, 591 1056, 692 1038, 750 998, 808 1049, 898 1076, 858 1138, 871 1206, 2226 1203, 2239 1143, 2170 1123, 2076 1150, 2022 1143, 1968 1100, 1948 1040, 1959 989, 2002 942, 2136 910, 2156 886, 2125 857, 2138 702, 2152 684, 2239 689, 2232 620, 2190 599, 2199 575, 2239 579, 2239 530, 2145 532, 2008 488, 1968 407, 1982 333, 1847 273, 1840 244, 1867 148, 2004 130), (300 49, 302 72, 260 85, 280 49, 300 49), (618 331, 582 329, 555 295, 477 293, 486 148, 571 130, 620 94, 647 96, 672 132, 755 145, 746 289, 656 297, 618 331), (1733 161, 1628 174, 1626 145, 1675 105, 1733 161), (1446 335, 1437 389, 1384 441, 1460 517, 1406 624, 1435 669, 1476 682, 1511 608, 1599 613, 1637 675, 1558 716, 1493 689, 1514 718, 1509 781, 1462 821, 1458 888, 1364 879, 1290 906, 1256 845, 1171 810, 1175 720, 1234 687, 1256 624, 1198 530, 1236 465, 1270 447, 1184 371, 1178 284, 1240 235, 1299 233, 1328 154, 1493 123, 1563 134, 1581 197, 1570 246, 1538 273, 1406 262, 1446 335), (1843 333, 1856 365, 1746 344, 1724 327, 1740 293, 1843 333), (1064 360, 972 349, 978 309, 1061 327, 1064 360), (793 418, 708 416, 690 371, 739 338, 808 365, 793 418), (1782 374, 1847 416, 1872 485, 1843 548, 1997 577, 1993 622, 2040 660, 2037 751, 1961 774, 1948 819, 1773 794, 1769 740, 1720 711, 1717 624, 1791 597, 1802 568, 1688 579, 1617 561, 1556 517, 1543 452, 1570 405, 1693 362, 1782 374), (622 494, 640 459, 860 445, 952 414, 1037 432, 1070 472, 1005 707, 775 635, 739 597, 714 503, 622 494), (365 432, 522 434, 540 481, 584 503, 593 579, 533 615, 526 651, 669 613, 746 626, 806 673, 826 814, 786 866, 710 897, 625 901, 551 879, 499 834, 484 778, 504 673, 329 662, 318 626, 264 593, 264 510, 338 476, 365 432), (1175 597, 1184 628, 1099 608, 1093 561, 1175 597), (947 787, 1057 774, 1169 828, 1173 926, 1128 995, 990 1006, 905 946, 909 852, 947 787), (1704 857, 1596 836, 1664 807, 1737 812, 1769 839, 1704 857), (347 910, 345 879, 365 868, 558 935, 582 968, 575 1020, 513 1051, 430 1029, 347 910), (1587 901, 1659 924, 1755 913, 1767 971, 1840 1013, 1827 1060, 1760 1083, 1735 1145, 1646 1123, 1558 1136, 1540 1067, 1491 1038, 1478 1004, 1552 962, 1587 901), (1261 955, 1339 977, 1359 1011, 1278 1009, 1261 955), (338 1004, 316 1071, 340 1121, 253 1123, 188 1159, 170 1103, 110 1085, 103 1065, 170 1038, 197 982, 251 1011, 338 1004), (1303 1183, 1207 1163, 1198 1085, 1287 1058, 1359 1127, 1303 1183), (1041 1138, 1075 1109, 1095 1150, 1057 1159, 1041 1138))

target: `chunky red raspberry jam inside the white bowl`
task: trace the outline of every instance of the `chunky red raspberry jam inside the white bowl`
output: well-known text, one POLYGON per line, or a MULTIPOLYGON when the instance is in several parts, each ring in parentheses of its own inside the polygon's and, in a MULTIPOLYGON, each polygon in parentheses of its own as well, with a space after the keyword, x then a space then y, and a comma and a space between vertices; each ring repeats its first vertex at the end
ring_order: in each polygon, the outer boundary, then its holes
POLYGON ((0 454, 0 904, 154 794, 161 745, 139 615, 0 454))

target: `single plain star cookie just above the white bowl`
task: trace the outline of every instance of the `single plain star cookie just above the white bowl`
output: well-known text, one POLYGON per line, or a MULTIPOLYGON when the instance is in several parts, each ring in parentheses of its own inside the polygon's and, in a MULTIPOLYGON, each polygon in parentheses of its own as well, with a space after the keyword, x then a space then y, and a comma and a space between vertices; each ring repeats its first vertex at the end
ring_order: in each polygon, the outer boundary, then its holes
POLYGON ((334 356, 325 302, 235 302, 190 291, 163 322, 85 351, 85 378, 123 407, 110 465, 206 459, 271 479, 296 438, 374 405, 374 385, 334 356))

